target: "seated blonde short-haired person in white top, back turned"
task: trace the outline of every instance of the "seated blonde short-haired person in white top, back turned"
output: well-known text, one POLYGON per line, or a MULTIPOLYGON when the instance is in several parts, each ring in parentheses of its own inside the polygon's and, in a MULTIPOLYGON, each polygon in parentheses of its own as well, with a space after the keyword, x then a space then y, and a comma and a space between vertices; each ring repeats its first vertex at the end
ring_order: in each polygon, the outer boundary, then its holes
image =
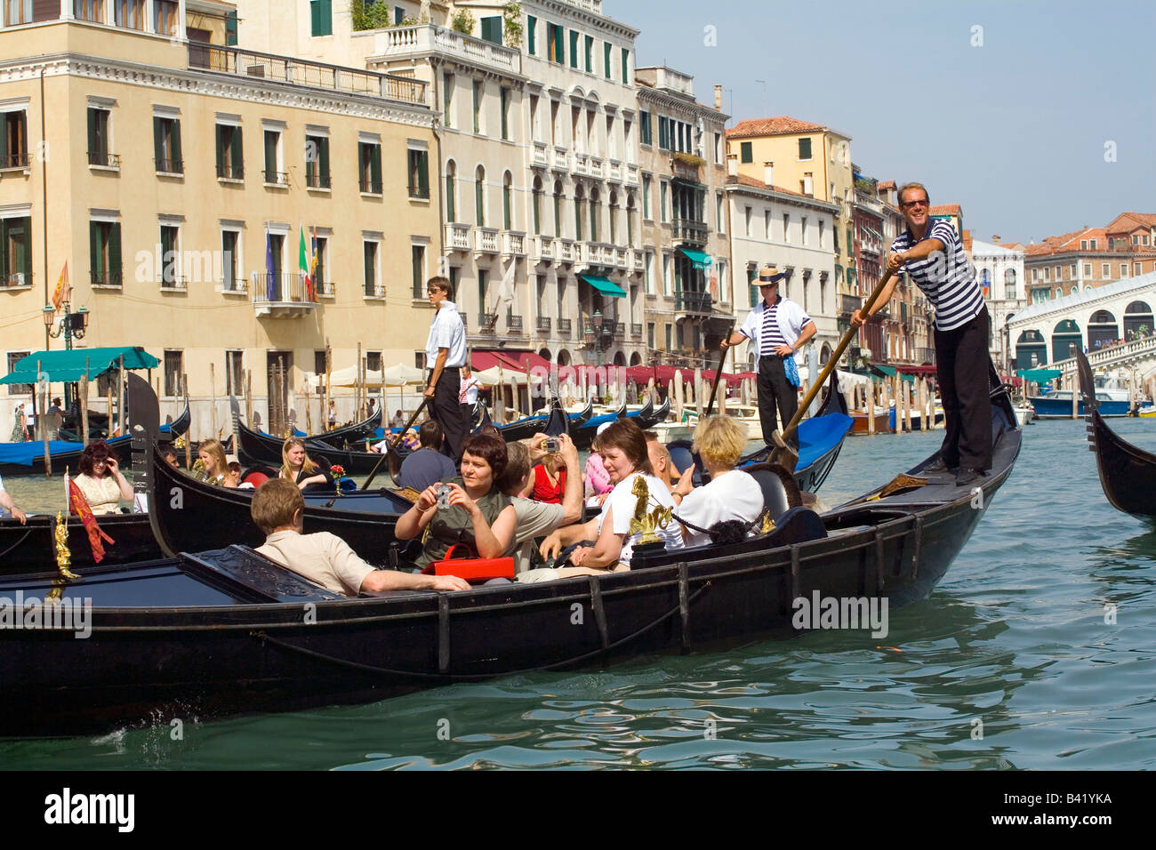
POLYGON ((746 526, 735 526, 740 539, 755 531, 763 515, 763 490, 754 478, 734 468, 746 444, 746 429, 733 416, 711 416, 695 429, 694 449, 711 481, 690 490, 674 512, 683 523, 687 546, 712 542, 709 531, 720 523, 738 520, 746 526))

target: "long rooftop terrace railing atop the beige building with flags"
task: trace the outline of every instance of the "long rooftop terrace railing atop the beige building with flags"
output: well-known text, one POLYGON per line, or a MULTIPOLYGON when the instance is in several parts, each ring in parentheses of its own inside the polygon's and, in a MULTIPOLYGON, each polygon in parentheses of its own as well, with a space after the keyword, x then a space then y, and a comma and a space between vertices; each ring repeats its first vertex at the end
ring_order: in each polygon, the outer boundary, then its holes
POLYGON ((273 53, 258 53, 239 47, 190 42, 188 67, 231 76, 255 76, 295 86, 425 105, 425 83, 421 80, 343 68, 273 53))

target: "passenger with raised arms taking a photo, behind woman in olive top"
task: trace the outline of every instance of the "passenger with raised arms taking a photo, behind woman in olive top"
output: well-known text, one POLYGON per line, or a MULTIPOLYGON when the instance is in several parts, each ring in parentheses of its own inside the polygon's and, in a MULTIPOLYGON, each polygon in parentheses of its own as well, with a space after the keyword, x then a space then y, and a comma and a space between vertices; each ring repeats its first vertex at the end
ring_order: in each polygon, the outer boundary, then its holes
POLYGON ((536 434, 523 443, 506 444, 506 471, 502 476, 502 490, 513 503, 518 524, 514 529, 514 541, 506 554, 513 555, 514 572, 525 572, 532 567, 534 540, 550 533, 563 525, 570 525, 581 519, 581 475, 578 474, 578 449, 569 436, 557 437, 561 443, 558 458, 566 473, 565 493, 561 504, 539 502, 524 498, 518 494, 532 482, 531 463, 535 454, 541 457, 544 450, 544 434, 536 434))

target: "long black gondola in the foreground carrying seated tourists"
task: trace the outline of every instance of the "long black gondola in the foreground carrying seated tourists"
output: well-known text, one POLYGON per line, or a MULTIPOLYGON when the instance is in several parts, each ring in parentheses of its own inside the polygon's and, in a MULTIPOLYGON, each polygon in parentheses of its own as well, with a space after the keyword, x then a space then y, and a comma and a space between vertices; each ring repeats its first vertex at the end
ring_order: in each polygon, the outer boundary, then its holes
POLYGON ((1021 435, 1002 387, 993 393, 992 428, 993 467, 973 488, 942 475, 823 517, 795 507, 759 538, 650 559, 636 553, 635 569, 606 576, 344 599, 235 546, 98 567, 67 584, 7 577, 0 596, 52 593, 67 604, 58 611, 82 599, 91 608, 87 640, 0 629, 3 733, 369 702, 686 651, 788 631, 793 600, 813 593, 904 605, 942 578, 1015 464, 1021 435), (576 605, 588 614, 577 623, 576 605))

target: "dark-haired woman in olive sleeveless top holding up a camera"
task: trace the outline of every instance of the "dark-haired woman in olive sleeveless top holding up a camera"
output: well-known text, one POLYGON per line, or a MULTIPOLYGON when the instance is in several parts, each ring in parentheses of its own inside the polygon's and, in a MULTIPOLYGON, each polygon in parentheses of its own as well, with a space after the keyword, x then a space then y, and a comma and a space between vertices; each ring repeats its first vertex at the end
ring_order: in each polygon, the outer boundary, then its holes
POLYGON ((414 507, 398 519, 399 540, 429 531, 417 566, 440 561, 455 544, 466 544, 479 557, 501 557, 514 539, 517 516, 498 488, 506 467, 505 442, 484 434, 461 444, 461 475, 427 487, 414 507), (438 489, 449 487, 449 500, 438 504, 438 489))

